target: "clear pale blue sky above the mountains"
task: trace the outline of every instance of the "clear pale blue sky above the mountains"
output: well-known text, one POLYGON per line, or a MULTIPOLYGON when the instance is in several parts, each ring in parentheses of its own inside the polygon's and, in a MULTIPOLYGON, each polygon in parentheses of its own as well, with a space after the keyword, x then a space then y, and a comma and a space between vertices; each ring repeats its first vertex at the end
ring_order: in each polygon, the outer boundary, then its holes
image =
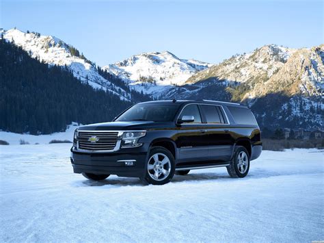
POLYGON ((100 66, 148 51, 217 63, 324 42, 323 1, 0 1, 0 27, 56 36, 100 66))

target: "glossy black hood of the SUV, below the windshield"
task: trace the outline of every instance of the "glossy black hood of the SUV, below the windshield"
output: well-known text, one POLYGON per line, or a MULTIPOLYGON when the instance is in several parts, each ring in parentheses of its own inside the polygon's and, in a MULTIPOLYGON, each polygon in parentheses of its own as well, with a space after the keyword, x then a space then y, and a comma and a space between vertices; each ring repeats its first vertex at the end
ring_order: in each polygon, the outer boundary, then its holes
POLYGON ((118 130, 146 130, 173 125, 172 122, 153 122, 143 120, 116 121, 110 123, 96 123, 79 127, 81 131, 118 131, 118 130))

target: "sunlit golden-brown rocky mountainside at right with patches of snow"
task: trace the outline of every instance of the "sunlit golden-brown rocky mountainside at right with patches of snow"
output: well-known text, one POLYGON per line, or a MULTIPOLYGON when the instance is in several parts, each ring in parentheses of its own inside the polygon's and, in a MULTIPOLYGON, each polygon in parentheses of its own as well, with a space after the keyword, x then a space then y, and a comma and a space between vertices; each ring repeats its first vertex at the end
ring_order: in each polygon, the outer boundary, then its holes
POLYGON ((318 47, 288 49, 266 45, 252 53, 234 55, 190 77, 186 84, 201 81, 227 81, 245 86, 237 100, 263 97, 271 93, 289 96, 319 95, 324 88, 324 44, 318 47))

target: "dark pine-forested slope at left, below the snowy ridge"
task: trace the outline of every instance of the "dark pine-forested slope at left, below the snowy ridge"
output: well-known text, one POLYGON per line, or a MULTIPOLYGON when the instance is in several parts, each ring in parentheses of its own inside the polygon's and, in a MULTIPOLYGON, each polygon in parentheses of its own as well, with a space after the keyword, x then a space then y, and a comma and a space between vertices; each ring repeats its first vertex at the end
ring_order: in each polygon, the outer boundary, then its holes
MULTIPOLYGON (((31 53, 30 53, 31 54, 31 53)), ((0 41, 0 129, 31 134, 63 131, 72 121, 110 121, 131 103, 94 90, 67 66, 49 66, 0 41)))

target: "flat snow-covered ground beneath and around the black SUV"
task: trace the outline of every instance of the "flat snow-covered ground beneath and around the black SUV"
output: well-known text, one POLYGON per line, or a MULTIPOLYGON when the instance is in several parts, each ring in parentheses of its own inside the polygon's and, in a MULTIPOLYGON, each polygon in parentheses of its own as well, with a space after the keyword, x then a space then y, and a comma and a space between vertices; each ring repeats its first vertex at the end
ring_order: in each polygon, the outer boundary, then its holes
POLYGON ((263 151, 245 179, 215 168, 144 186, 87 181, 69 149, 0 146, 1 242, 324 240, 324 151, 263 151))

